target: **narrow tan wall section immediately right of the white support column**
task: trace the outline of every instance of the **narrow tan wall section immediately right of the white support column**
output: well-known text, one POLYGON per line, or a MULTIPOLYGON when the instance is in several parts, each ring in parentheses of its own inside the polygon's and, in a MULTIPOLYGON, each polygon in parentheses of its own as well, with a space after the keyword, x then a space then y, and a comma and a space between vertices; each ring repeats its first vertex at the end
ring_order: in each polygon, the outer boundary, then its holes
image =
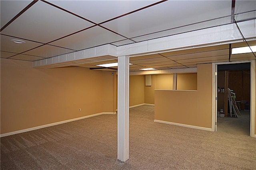
POLYGON ((144 103, 145 76, 130 76, 129 106, 144 103))

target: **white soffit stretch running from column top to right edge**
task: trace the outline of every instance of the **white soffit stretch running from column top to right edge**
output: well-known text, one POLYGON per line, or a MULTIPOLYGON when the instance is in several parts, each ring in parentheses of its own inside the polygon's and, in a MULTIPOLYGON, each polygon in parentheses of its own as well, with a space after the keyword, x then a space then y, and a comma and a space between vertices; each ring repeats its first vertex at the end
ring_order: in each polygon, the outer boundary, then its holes
MULTIPOLYGON (((238 26, 245 38, 255 40, 256 20, 239 22, 238 26)), ((154 54, 160 52, 168 52, 175 50, 184 50, 196 47, 213 46, 220 44, 229 44, 231 42, 242 42, 235 24, 224 26, 216 26, 187 33, 182 33, 174 36, 156 38, 147 40, 143 43, 133 43, 124 46, 118 46, 118 56, 140 56, 144 54, 154 54), (180 36, 180 39, 179 39, 180 36), (175 42, 175 43, 174 43, 175 42), (139 47, 139 48, 138 48, 139 47)))

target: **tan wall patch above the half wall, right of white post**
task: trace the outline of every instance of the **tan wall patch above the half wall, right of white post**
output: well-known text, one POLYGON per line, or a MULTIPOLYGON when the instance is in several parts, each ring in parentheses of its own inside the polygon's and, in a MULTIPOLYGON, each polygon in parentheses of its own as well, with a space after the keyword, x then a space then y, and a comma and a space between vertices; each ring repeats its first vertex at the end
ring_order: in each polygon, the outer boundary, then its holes
POLYGON ((177 90, 197 90, 197 74, 177 74, 177 90))

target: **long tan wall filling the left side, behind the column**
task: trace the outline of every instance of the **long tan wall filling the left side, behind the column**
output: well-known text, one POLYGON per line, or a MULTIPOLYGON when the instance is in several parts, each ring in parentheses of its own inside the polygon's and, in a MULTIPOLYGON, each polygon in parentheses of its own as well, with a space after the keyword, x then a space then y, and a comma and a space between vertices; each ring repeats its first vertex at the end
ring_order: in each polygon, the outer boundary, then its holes
POLYGON ((114 111, 112 72, 1 58, 1 134, 114 111), (78 109, 81 108, 81 112, 78 109))

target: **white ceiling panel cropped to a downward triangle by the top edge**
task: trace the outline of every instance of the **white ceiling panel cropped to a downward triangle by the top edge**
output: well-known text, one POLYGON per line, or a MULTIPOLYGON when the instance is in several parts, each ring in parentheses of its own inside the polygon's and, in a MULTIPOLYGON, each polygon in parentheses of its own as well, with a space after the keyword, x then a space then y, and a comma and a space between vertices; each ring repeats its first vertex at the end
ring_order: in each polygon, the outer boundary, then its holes
POLYGON ((156 0, 50 0, 97 24, 157 2, 156 0))

